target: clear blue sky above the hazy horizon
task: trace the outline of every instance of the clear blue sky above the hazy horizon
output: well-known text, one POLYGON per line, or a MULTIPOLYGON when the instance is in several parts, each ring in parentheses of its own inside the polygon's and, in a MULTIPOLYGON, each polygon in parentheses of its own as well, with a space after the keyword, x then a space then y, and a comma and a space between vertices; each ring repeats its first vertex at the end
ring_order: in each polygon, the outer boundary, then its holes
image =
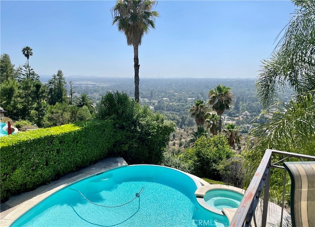
MULTIPOLYGON (((112 26, 115 1, 0 1, 0 52, 39 75, 133 77, 133 47, 112 26)), ((139 47, 140 78, 256 78, 287 24, 289 0, 160 0, 139 47)))

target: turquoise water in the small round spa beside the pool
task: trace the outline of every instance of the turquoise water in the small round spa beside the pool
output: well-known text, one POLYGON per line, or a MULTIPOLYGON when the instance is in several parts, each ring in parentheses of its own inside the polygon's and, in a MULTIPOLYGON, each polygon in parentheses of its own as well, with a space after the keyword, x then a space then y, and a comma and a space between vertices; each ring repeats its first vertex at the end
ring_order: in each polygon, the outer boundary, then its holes
POLYGON ((210 190, 204 196, 206 203, 218 210, 222 210, 222 208, 237 208, 242 198, 242 194, 225 189, 210 190))

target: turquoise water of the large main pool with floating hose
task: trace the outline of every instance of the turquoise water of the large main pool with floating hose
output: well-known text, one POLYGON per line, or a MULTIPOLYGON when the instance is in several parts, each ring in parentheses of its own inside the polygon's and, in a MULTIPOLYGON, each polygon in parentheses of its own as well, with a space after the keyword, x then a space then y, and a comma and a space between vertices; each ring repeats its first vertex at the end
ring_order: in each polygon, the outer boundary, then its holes
POLYGON ((11 227, 226 227, 225 216, 199 205, 196 189, 192 178, 172 168, 119 167, 63 188, 11 227))

